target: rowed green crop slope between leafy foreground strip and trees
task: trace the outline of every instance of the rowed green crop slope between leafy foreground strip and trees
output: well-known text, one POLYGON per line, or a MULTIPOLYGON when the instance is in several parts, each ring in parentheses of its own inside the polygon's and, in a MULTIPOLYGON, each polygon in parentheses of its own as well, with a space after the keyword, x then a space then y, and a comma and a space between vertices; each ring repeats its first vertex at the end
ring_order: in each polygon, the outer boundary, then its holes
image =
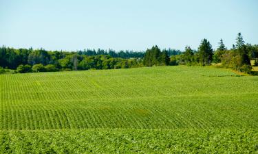
POLYGON ((0 129, 258 127, 258 77, 214 68, 28 73, 0 79, 0 129))

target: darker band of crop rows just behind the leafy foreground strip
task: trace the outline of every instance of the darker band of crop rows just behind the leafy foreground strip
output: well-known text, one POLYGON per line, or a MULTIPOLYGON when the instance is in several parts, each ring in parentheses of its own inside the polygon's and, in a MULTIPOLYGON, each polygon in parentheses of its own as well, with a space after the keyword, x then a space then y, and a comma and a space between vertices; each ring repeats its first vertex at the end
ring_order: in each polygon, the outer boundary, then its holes
POLYGON ((258 99, 242 97, 148 97, 5 105, 0 109, 0 129, 255 128, 258 99))

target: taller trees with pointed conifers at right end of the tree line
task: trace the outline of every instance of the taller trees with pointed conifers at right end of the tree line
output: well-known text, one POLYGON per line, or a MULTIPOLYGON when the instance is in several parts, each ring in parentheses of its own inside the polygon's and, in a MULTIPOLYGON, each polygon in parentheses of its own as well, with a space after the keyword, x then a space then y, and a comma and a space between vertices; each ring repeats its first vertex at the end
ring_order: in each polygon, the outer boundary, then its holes
POLYGON ((214 63, 239 72, 251 73, 250 60, 255 60, 255 66, 258 66, 258 45, 245 44, 239 33, 231 49, 227 49, 221 39, 214 51, 210 42, 204 39, 197 51, 186 47, 182 54, 171 56, 170 65, 206 66, 214 63))

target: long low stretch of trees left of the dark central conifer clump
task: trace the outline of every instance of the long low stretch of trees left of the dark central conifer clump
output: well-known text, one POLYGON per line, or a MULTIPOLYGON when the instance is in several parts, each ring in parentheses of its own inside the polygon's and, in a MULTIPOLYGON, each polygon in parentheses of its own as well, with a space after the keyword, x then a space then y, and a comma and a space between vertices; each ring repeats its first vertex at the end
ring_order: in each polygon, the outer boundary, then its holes
MULTIPOLYGON (((182 52, 167 49, 169 55, 182 52)), ((0 47, 0 73, 7 69, 16 73, 53 72, 60 70, 118 69, 144 66, 144 51, 85 49, 84 51, 46 51, 45 49, 13 49, 0 47), (4 69, 6 68, 6 69, 4 69)), ((168 56, 169 56, 168 55, 168 56)), ((168 64, 168 63, 166 63, 168 64)))

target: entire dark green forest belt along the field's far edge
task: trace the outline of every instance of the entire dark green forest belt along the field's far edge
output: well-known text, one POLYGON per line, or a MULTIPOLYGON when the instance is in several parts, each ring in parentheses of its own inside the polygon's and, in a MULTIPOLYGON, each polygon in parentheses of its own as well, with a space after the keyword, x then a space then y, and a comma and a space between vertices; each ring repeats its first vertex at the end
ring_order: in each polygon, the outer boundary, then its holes
POLYGON ((118 52, 111 49, 69 52, 0 47, 0 73, 5 73, 8 69, 15 70, 15 73, 29 73, 166 65, 207 66, 217 63, 250 73, 250 60, 255 60, 255 65, 258 65, 258 45, 245 44, 240 33, 231 49, 227 49, 221 39, 219 47, 213 50, 211 43, 204 39, 197 51, 186 47, 184 52, 175 49, 161 51, 158 46, 147 51, 118 52))

